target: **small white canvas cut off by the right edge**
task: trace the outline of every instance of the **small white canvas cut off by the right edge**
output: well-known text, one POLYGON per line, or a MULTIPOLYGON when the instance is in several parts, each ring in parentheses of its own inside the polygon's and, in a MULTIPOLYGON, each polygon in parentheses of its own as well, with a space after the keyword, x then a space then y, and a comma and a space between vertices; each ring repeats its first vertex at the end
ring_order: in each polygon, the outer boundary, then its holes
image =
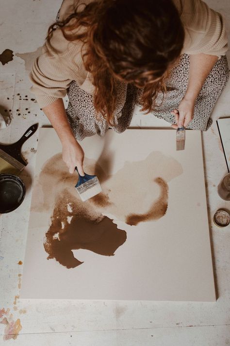
POLYGON ((223 146, 224 155, 228 171, 230 172, 230 118, 220 118, 217 120, 221 144, 223 146))

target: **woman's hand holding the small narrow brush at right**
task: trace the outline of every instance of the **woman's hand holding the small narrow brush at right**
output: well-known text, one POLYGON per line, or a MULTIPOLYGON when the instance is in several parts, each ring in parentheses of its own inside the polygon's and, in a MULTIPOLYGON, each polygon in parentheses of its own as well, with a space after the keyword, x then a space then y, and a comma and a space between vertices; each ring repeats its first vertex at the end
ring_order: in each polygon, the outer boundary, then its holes
POLYGON ((178 109, 174 109, 171 111, 171 113, 174 114, 175 121, 177 123, 177 125, 171 125, 171 127, 187 127, 190 121, 193 120, 194 107, 195 102, 184 97, 179 104, 178 109))

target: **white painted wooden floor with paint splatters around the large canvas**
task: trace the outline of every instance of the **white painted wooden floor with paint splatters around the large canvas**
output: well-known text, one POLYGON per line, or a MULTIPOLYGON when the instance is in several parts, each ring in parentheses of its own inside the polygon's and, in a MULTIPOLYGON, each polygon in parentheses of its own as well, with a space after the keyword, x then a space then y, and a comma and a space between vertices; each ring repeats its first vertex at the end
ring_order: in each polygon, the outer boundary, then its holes
MULTIPOLYGON (((225 15, 229 25, 230 1, 207 2, 225 15)), ((12 113, 11 125, 0 130, 1 143, 15 142, 35 122, 39 126, 49 124, 31 100, 34 96, 29 91, 28 71, 60 3, 61 0, 1 1, 0 54, 5 49, 14 52, 13 61, 4 66, 0 63, 0 111, 12 113)), ((230 26, 228 30, 230 33, 230 26)), ((228 57, 230 62, 230 51, 228 57)), ((230 83, 216 104, 214 120, 230 116, 229 96, 230 83)), ((144 116, 137 109, 132 126, 167 124, 144 116)), ((216 303, 18 301, 23 267, 18 262, 24 258, 37 146, 37 134, 33 135, 23 146, 29 162, 22 176, 27 186, 26 199, 15 212, 0 216, 0 345, 4 339, 17 346, 230 345, 230 227, 220 229, 212 221, 215 210, 230 209, 230 202, 221 200, 216 190, 227 167, 215 121, 203 134, 203 144, 216 303)))

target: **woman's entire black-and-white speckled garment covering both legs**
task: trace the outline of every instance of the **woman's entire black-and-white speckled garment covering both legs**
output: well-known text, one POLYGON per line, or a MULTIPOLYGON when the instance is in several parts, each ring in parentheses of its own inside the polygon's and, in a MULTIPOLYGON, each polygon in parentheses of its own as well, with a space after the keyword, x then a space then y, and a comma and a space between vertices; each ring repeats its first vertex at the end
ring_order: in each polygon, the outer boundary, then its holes
MULTIPOLYGON (((59 20, 59 14, 56 20, 59 20)), ((189 77, 189 55, 181 55, 177 66, 166 79, 166 92, 159 93, 156 103, 159 105, 152 109, 151 114, 162 118, 170 124, 175 124, 173 109, 177 109, 186 91, 189 77), (162 102, 163 99, 163 102, 162 102)), ((226 56, 222 56, 209 73, 197 97, 194 119, 187 128, 206 131, 212 125, 211 114, 216 101, 229 79, 229 66, 226 56)), ((113 129, 121 133, 129 127, 135 105, 140 105, 142 90, 135 86, 119 82, 116 110, 114 114, 113 129)), ((75 81, 72 81, 67 95, 69 98, 66 109, 70 127, 78 140, 98 134, 103 136, 108 124, 100 115, 96 115, 93 95, 83 91, 75 81)), ((143 115, 144 116, 144 115, 143 115)))

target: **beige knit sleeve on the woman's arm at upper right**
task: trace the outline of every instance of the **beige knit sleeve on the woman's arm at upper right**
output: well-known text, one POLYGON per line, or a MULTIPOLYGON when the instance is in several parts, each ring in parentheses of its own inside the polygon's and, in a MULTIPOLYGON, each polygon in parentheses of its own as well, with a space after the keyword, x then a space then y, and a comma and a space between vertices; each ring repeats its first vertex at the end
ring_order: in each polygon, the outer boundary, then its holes
POLYGON ((224 18, 201 0, 183 0, 181 20, 185 30, 182 53, 225 55, 228 38, 224 18))

